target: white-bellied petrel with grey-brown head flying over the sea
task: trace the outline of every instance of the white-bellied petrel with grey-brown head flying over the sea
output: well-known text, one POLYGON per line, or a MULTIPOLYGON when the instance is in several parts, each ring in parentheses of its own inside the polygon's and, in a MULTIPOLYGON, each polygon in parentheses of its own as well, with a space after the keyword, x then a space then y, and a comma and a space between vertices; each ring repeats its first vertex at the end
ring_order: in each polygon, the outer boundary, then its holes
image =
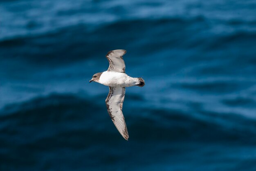
POLYGON ((119 133, 128 140, 129 135, 122 112, 125 88, 132 86, 143 87, 145 81, 142 78, 132 78, 125 73, 123 56, 126 50, 118 49, 109 51, 106 58, 109 62, 107 71, 95 73, 89 82, 99 82, 109 87, 106 106, 110 118, 114 122, 119 133))

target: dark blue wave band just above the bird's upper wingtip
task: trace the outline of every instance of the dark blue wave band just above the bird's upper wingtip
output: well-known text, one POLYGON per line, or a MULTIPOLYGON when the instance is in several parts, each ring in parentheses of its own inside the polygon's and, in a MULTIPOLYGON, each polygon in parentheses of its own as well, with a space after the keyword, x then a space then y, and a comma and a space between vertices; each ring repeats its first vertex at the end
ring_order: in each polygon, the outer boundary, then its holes
MULTIPOLYGON (((200 32, 209 31, 208 27, 207 21, 201 17, 124 20, 104 25, 94 31, 88 31, 86 25, 79 24, 42 35, 28 34, 0 40, 0 58, 20 58, 50 65, 97 58, 110 49, 120 48, 133 49, 133 54, 137 55, 143 51, 144 56, 170 49, 201 49, 202 53, 207 51, 211 54, 211 51, 239 44, 249 46, 256 38, 255 32, 246 31, 201 35, 200 32), (138 40, 139 37, 143 39, 138 40)), ((254 52, 251 51, 247 56, 252 53, 254 52)))

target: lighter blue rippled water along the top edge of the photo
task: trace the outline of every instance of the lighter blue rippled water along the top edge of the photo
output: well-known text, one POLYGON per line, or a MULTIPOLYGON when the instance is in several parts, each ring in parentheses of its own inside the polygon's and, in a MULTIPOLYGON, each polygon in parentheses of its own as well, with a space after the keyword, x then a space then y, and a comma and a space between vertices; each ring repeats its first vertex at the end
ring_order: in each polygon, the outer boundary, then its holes
MULTIPOLYGON (((140 2, 130 1, 129 5, 122 2, 117 3, 115 0, 108 2, 77 0, 76 3, 69 0, 66 0, 65 3, 59 0, 43 2, 20 0, 18 3, 2 1, 0 5, 2 16, 4 16, 0 39, 31 33, 45 33, 77 24, 85 24, 92 29, 134 18, 161 20, 162 18, 190 19, 201 16, 207 21, 212 21, 209 25, 224 23, 230 24, 232 28, 242 26, 240 29, 250 29, 256 21, 253 1, 234 1, 232 5, 228 1, 223 1, 222 8, 218 8, 220 4, 213 0, 207 4, 200 1, 191 3, 186 0, 177 2, 142 0, 140 2), (9 21, 15 22, 10 23, 9 21)), ((229 31, 229 28, 225 30, 229 31)))

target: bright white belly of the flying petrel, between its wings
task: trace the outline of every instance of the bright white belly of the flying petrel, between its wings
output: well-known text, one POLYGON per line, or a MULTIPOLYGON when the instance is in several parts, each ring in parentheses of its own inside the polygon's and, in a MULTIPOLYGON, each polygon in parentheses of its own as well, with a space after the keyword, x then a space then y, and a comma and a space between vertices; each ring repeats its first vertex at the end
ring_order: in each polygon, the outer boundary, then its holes
POLYGON ((137 78, 132 78, 126 73, 105 71, 99 78, 99 83, 111 87, 131 87, 138 83, 137 78))

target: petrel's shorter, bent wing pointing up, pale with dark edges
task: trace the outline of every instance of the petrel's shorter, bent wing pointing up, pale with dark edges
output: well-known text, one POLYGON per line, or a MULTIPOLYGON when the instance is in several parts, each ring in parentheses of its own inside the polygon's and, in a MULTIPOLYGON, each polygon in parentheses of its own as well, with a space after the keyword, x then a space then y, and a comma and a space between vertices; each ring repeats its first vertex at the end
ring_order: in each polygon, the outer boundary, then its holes
POLYGON ((126 53, 126 50, 114 50, 109 51, 106 55, 106 58, 109 62, 108 71, 116 71, 125 73, 125 64, 123 60, 123 55, 126 53))

